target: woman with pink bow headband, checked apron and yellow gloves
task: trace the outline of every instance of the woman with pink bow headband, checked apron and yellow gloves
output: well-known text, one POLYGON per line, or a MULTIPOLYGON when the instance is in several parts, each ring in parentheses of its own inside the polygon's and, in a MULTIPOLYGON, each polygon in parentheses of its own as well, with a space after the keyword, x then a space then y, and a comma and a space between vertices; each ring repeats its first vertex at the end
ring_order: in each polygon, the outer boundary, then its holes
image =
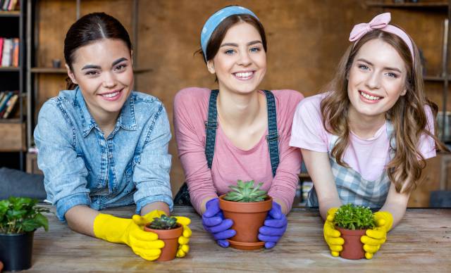
POLYGON ((326 220, 333 256, 344 243, 332 224, 340 205, 380 208, 361 239, 371 259, 402 219, 424 160, 446 149, 434 135, 437 106, 424 94, 419 51, 389 22, 383 13, 354 26, 333 91, 299 103, 293 121, 290 145, 302 150, 314 182, 309 205, 326 220))

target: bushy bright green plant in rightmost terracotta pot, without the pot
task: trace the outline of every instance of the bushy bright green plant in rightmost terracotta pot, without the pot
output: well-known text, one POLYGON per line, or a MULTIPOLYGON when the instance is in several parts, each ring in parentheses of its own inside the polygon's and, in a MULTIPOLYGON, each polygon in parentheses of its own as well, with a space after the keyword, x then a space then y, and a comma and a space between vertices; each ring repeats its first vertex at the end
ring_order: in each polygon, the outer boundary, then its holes
POLYGON ((342 205, 335 212, 335 226, 342 229, 373 229, 376 226, 373 212, 360 205, 342 205))

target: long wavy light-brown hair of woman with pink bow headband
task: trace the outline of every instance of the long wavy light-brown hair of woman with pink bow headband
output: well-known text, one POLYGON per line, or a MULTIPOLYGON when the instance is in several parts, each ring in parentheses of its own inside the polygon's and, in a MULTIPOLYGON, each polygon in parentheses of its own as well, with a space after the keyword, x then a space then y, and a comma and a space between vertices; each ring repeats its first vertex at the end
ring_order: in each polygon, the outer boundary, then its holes
MULTIPOLYGON (((347 95, 347 76, 359 49, 372 39, 381 39, 390 44, 400 54, 407 69, 405 89, 407 93, 400 96, 395 105, 385 113, 385 118, 393 123, 396 146, 391 147, 395 155, 386 166, 388 177, 395 184, 396 191, 409 192, 415 189, 419 182, 421 172, 426 165, 421 153, 418 151, 422 134, 431 136, 438 151, 448 151, 446 146, 438 140, 436 126, 434 134, 429 132, 428 120, 424 106, 430 106, 433 116, 437 115, 438 107, 429 101, 424 94, 424 82, 419 61, 419 51, 414 47, 414 62, 407 44, 400 37, 390 32, 373 30, 364 35, 356 44, 350 45, 338 65, 334 79, 328 85, 330 94, 321 101, 323 126, 330 134, 338 136, 338 141, 331 153, 338 164, 349 167, 342 157, 350 141, 350 127, 348 109, 350 99, 347 95)), ((412 40, 412 39, 411 39, 412 40)), ((436 122, 434 122, 436 125, 436 122)))

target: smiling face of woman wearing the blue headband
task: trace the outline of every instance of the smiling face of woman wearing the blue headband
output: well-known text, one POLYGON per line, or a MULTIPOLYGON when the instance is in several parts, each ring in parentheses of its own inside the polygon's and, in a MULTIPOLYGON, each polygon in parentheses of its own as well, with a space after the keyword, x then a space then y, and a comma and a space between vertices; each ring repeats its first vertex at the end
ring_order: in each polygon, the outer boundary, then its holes
POLYGON ((266 52, 257 29, 244 22, 230 27, 207 67, 216 73, 221 91, 249 94, 257 90, 266 73, 266 52))

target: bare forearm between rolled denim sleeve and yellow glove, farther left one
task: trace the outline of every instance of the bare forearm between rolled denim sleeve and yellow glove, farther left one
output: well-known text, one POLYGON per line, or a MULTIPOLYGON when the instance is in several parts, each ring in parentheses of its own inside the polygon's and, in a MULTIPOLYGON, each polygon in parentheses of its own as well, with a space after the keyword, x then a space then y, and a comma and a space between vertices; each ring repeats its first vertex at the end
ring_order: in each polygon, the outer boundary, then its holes
POLYGON ((100 212, 89 208, 87 205, 75 205, 66 212, 68 226, 73 231, 89 236, 94 235, 94 219, 100 212))

